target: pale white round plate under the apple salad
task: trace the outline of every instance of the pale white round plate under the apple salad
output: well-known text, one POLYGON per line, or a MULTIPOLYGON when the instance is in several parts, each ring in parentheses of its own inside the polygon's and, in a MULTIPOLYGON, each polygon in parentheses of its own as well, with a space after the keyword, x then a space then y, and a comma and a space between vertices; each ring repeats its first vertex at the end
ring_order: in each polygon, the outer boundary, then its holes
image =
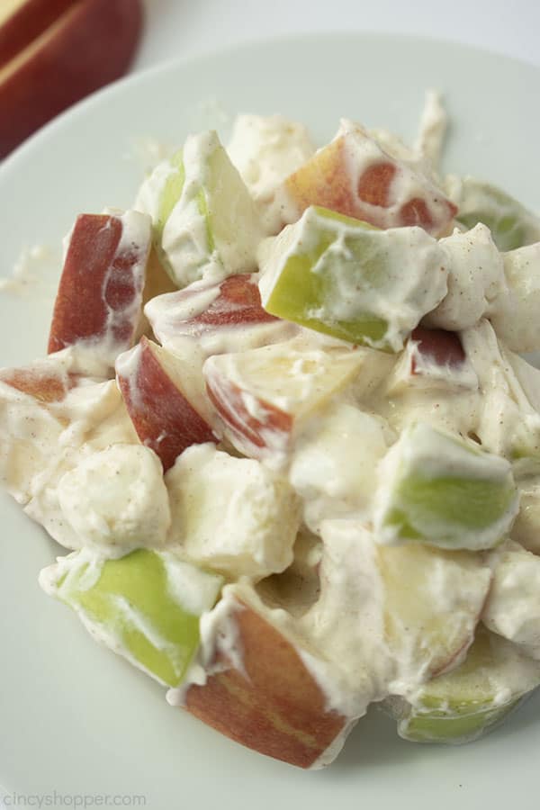
MULTIPOLYGON (((444 91, 452 116, 446 167, 490 178, 540 206, 536 68, 428 40, 358 34, 281 40, 135 76, 15 153, 0 168, 0 274, 8 275, 23 246, 58 245, 76 212, 129 204, 140 179, 125 157, 132 139, 181 143, 188 130, 220 119, 211 99, 228 113, 283 112, 305 121, 320 142, 343 115, 410 139, 427 87, 444 91)), ((43 300, 0 296, 0 365, 43 353, 47 290, 38 285, 38 291, 43 300)), ((238 810, 502 808, 518 796, 522 806, 536 806, 538 698, 499 731, 461 748, 404 743, 392 722, 374 712, 334 765, 302 773, 168 707, 156 684, 94 644, 67 608, 40 592, 37 573, 56 546, 5 497, 0 518, 5 792, 54 798, 56 791, 57 806, 60 798, 74 805, 73 797, 85 794, 94 804, 96 795, 124 795, 123 806, 137 806, 130 801, 135 794, 157 810, 193 802, 238 810)))

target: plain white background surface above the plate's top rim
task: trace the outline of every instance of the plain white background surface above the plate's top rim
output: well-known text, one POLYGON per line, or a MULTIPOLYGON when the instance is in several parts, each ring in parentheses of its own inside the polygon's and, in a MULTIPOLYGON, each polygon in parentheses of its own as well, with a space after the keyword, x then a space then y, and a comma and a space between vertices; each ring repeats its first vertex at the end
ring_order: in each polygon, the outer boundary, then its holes
MULTIPOLYGON (((540 66, 538 0, 144 0, 134 65, 302 31, 392 31, 455 40, 540 66)), ((324 58, 324 54, 321 54, 324 58)), ((346 77, 351 81, 351 77, 346 77)))

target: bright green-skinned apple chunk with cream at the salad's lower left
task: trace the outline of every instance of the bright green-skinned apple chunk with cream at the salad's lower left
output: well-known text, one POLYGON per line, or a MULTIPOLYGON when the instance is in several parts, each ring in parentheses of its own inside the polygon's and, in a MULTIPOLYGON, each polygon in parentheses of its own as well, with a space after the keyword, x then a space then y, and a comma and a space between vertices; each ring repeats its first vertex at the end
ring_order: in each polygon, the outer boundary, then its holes
POLYGON ((103 561, 85 549, 45 568, 40 585, 74 608, 94 639, 177 687, 199 647, 200 617, 222 580, 164 552, 139 549, 103 561))

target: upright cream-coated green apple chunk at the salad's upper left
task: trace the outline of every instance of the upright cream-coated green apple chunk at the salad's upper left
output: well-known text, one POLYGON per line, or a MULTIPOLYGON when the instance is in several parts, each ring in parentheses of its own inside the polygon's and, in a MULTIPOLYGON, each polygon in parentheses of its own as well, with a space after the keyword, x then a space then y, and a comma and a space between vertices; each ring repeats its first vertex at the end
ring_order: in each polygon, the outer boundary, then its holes
POLYGON ((262 230, 255 203, 215 132, 190 136, 157 166, 136 206, 154 220, 158 254, 179 287, 209 272, 256 268, 262 230))

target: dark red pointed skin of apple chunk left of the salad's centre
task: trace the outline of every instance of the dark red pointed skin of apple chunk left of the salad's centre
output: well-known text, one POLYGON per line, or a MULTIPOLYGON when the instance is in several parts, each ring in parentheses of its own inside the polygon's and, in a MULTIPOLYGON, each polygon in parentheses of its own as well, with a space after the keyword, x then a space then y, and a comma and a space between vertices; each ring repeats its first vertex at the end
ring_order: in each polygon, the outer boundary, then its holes
POLYGON ((166 472, 187 447, 217 439, 159 362, 165 349, 143 337, 139 351, 133 373, 117 370, 117 381, 140 441, 154 450, 166 472))

